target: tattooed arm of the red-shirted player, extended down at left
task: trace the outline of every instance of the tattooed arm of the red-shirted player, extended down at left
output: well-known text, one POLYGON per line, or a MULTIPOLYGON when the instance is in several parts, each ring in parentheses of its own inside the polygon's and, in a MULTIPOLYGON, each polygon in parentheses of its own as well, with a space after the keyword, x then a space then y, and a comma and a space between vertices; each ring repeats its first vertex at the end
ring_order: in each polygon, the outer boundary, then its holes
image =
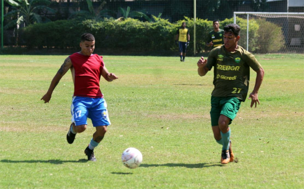
POLYGON ((50 101, 50 99, 52 97, 52 93, 53 93, 54 89, 56 88, 56 86, 58 85, 60 79, 64 76, 64 74, 67 73, 67 71, 71 67, 72 67, 71 59, 69 57, 67 57, 65 59, 64 63, 59 68, 59 70, 57 71, 57 73, 54 76, 53 80, 51 81, 49 90, 47 91, 47 93, 40 100, 43 100, 44 103, 47 103, 47 102, 50 101))

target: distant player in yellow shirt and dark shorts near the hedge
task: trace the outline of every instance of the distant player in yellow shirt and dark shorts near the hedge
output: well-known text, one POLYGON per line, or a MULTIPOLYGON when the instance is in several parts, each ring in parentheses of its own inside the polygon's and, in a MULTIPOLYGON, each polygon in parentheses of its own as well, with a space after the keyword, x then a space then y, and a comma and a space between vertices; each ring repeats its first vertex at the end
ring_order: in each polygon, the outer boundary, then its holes
POLYGON ((189 45, 190 34, 189 29, 186 28, 186 22, 181 24, 181 28, 178 29, 175 36, 175 43, 178 43, 181 61, 185 61, 185 56, 187 52, 187 46, 189 45))

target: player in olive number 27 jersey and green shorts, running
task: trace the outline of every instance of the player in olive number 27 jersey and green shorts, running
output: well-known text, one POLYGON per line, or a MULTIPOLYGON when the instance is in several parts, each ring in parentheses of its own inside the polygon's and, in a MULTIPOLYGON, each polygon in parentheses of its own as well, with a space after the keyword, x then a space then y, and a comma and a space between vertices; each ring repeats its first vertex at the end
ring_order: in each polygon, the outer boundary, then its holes
POLYGON ((260 101, 257 92, 262 84, 264 70, 254 55, 237 45, 240 39, 240 27, 229 24, 224 27, 224 45, 212 49, 208 60, 201 57, 197 62, 200 76, 214 67, 211 94, 211 126, 217 143, 223 145, 221 163, 234 160, 230 141, 231 121, 236 117, 241 101, 245 101, 249 87, 250 68, 256 73, 253 91, 250 93, 250 107, 257 107, 260 101))

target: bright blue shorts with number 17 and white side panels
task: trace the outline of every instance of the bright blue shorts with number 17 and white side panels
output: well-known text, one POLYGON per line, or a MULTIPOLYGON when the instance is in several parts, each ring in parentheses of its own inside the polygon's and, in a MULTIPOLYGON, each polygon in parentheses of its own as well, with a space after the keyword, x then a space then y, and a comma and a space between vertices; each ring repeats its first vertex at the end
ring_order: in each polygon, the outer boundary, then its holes
POLYGON ((72 123, 75 125, 88 124, 87 118, 92 120, 93 126, 110 125, 107 103, 103 98, 74 96, 71 105, 72 123))

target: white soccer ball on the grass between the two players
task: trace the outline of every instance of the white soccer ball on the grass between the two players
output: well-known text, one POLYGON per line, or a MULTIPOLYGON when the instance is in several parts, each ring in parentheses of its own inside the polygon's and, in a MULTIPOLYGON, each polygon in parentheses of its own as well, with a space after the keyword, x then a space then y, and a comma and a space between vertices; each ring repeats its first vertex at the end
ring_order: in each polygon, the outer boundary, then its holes
POLYGON ((143 161, 143 155, 136 148, 127 148, 121 155, 121 161, 124 166, 135 169, 143 161))

